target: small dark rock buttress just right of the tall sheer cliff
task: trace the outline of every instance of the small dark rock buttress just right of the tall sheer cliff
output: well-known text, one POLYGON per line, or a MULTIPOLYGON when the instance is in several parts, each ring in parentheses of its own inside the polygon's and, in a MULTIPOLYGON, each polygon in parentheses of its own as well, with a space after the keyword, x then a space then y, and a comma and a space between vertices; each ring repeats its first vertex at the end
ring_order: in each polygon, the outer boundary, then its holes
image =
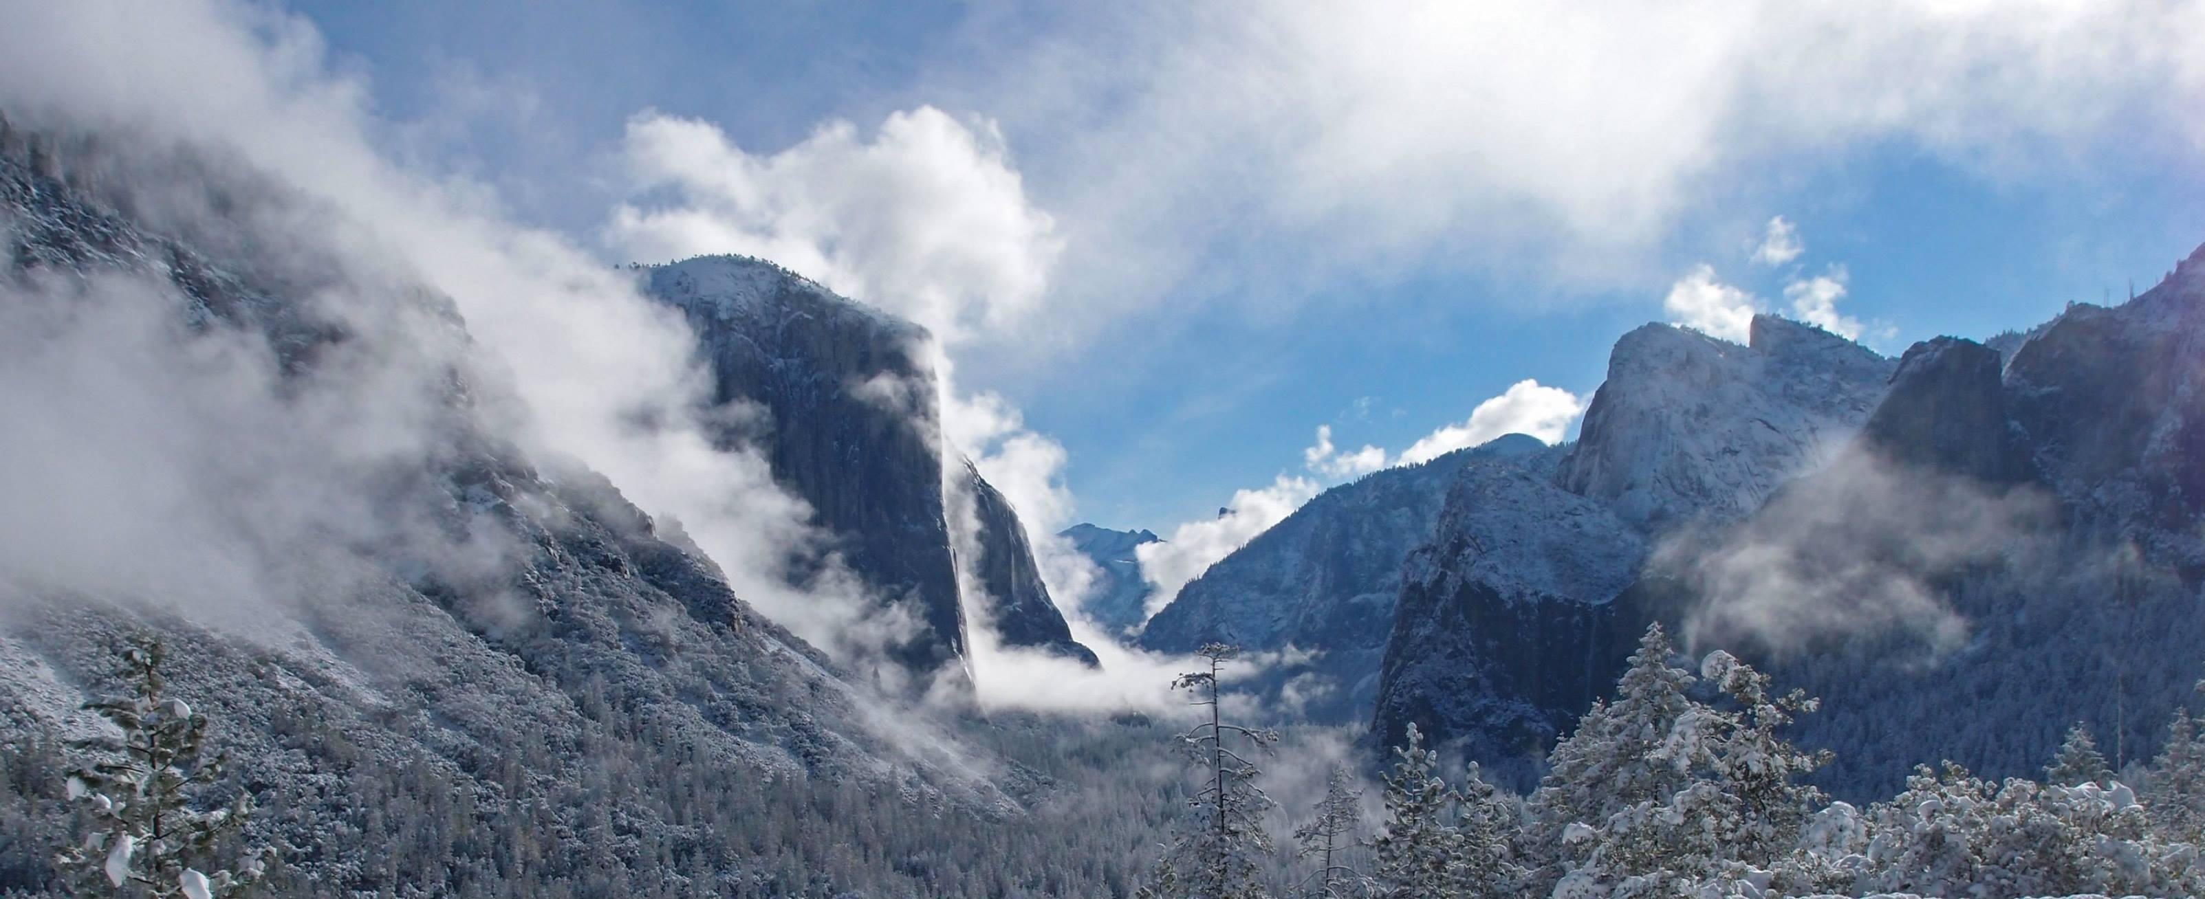
POLYGON ((972 491, 979 544, 979 560, 968 564, 990 604, 988 617, 997 635, 1005 646, 1041 648, 1098 668, 1094 650, 1072 639, 1065 615, 1050 602, 1050 588, 1034 566, 1034 549, 1025 542, 1025 527, 1010 500, 981 480, 972 465, 966 465, 966 489, 972 491))

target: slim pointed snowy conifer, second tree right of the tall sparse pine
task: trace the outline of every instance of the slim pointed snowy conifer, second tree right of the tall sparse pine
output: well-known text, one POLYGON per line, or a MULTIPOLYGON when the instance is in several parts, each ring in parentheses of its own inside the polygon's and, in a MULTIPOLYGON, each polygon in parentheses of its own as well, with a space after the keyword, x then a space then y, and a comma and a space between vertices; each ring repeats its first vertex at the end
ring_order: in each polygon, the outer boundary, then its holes
POLYGON ((1424 749, 1424 734, 1409 725, 1394 747, 1385 780, 1385 833, 1372 842, 1374 875, 1385 899, 1440 899, 1460 895, 1462 833, 1446 822, 1460 795, 1433 769, 1440 756, 1424 749))

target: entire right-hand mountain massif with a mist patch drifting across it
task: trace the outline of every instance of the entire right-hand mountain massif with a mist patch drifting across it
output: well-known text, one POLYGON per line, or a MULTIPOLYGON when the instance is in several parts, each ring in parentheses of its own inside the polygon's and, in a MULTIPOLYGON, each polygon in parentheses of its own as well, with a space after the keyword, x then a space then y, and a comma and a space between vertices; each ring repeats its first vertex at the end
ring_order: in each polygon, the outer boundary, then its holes
POLYGON ((2201 353, 2205 249, 2123 306, 1896 364, 1773 317, 1751 346, 1634 331, 1552 476, 1453 485, 1374 732, 1521 776, 1665 621, 1821 696, 1799 734, 1841 793, 1923 758, 2031 773, 2077 721, 2148 758, 2205 672, 2201 353))

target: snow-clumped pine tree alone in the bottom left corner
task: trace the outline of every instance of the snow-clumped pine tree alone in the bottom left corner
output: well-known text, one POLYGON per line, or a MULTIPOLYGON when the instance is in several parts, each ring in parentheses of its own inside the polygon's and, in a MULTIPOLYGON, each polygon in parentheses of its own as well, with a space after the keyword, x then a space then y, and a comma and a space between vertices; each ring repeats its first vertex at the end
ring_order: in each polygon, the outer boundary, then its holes
POLYGON ((245 826, 254 802, 238 793, 225 809, 192 809, 194 793, 220 780, 225 758, 201 758, 207 716, 163 696, 165 661, 157 637, 132 639, 121 674, 135 692, 84 703, 108 718, 121 738, 73 743, 79 751, 104 756, 71 769, 66 780, 68 798, 95 822, 82 842, 55 857, 77 879, 79 895, 232 897, 258 881, 273 857, 254 848, 236 868, 212 864, 223 837, 245 826))

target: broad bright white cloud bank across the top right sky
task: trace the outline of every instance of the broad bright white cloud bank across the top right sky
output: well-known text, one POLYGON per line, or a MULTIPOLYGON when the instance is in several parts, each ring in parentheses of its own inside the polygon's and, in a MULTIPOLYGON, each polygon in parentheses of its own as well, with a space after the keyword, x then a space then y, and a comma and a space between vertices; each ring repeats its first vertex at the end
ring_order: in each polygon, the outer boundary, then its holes
POLYGON ((1133 0, 983 33, 968 46, 1005 51, 950 88, 1003 121, 1080 236, 1063 280, 1091 302, 1072 315, 1429 264, 1614 284, 1711 187, 1859 148, 1978 176, 2187 159, 2205 7, 2119 9, 1133 0))

